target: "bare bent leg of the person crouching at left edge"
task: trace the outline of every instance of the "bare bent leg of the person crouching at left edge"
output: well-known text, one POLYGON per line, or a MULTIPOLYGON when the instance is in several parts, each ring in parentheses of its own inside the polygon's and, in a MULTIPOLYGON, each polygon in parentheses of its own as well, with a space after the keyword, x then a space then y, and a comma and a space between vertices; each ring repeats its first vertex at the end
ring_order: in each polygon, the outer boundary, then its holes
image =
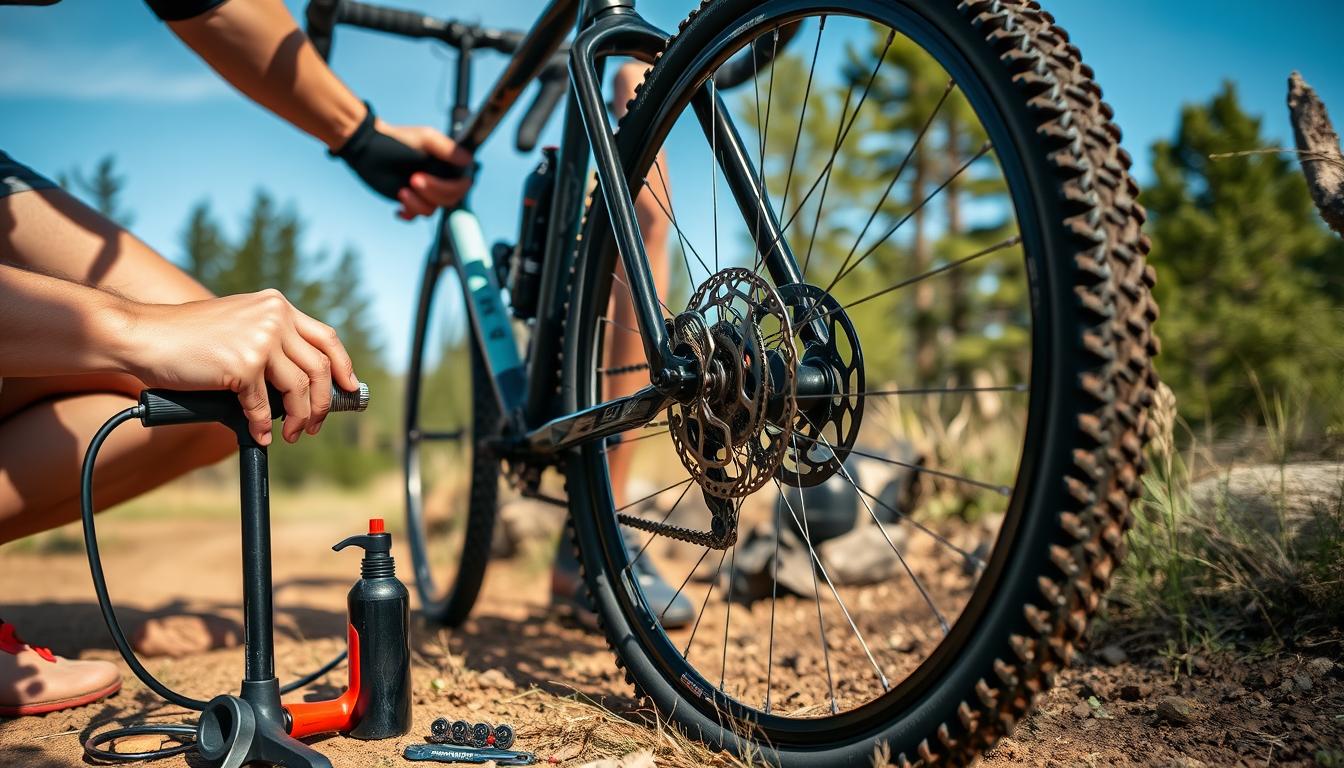
MULTIPOLYGON (((59 190, 0 199, 0 261, 113 291, 137 301, 210 297, 199 282, 144 242, 59 190)), ((79 467, 93 433, 134 405, 142 385, 128 375, 5 379, 0 387, 0 543, 79 515, 79 467)), ((125 426, 99 457, 99 508, 130 499, 228 456, 215 425, 155 430, 125 426)))

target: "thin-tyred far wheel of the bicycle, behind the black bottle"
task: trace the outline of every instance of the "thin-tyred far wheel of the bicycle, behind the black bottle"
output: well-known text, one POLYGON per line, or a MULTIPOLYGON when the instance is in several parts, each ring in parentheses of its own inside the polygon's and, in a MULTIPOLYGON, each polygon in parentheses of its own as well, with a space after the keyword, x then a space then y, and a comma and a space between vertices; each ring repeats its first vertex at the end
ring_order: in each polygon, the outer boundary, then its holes
POLYGON ((466 620, 485 577, 500 464, 482 441, 500 424, 457 272, 426 262, 406 371, 406 530, 421 611, 466 620))

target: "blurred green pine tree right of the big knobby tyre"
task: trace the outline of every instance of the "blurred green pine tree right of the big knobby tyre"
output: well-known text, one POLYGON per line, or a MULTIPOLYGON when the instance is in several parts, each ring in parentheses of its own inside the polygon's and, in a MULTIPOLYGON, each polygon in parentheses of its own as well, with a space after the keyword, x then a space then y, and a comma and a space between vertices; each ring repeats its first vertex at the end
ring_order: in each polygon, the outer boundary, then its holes
MULTIPOLYGON (((1176 136, 1153 148, 1157 182, 1144 202, 1163 308, 1159 364, 1191 420, 1259 416, 1250 374, 1290 397, 1329 395, 1344 374, 1329 299, 1344 243, 1317 221, 1290 161, 1210 157, 1267 145, 1227 83, 1187 106, 1176 136)), ((1316 416, 1327 405, 1317 401, 1316 416)))

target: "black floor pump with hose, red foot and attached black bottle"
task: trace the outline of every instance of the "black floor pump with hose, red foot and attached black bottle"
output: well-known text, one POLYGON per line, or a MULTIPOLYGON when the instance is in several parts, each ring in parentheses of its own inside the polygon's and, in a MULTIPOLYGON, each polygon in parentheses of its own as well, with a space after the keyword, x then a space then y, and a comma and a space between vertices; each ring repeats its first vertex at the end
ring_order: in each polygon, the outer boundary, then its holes
MULTIPOLYGON (((332 412, 359 412, 368 406, 368 387, 359 391, 333 390, 332 412)), ((270 391, 273 418, 282 418, 280 393, 270 391)), ((312 746, 298 741, 314 733, 341 732, 356 738, 388 738, 410 729, 410 643, 409 593, 396 580, 390 554, 391 535, 380 519, 370 521, 367 534, 353 535, 333 549, 359 546, 364 550, 360 580, 349 592, 347 652, 320 670, 285 686, 274 668, 274 636, 270 573, 270 499, 266 448, 247 429, 247 421, 231 391, 145 390, 138 405, 109 420, 94 436, 85 455, 81 476, 81 511, 85 547, 98 605, 130 670, 163 698, 192 710, 200 718, 192 725, 136 725, 105 730, 89 738, 85 752, 97 760, 129 761, 167 757, 195 749, 211 768, 238 768, 245 764, 286 768, 331 768, 312 746), (98 449, 113 429, 138 418, 144 426, 219 422, 238 438, 239 496, 243 551, 243 681, 238 695, 220 694, 210 701, 185 697, 156 679, 136 658, 117 621, 94 530, 93 469, 98 449), (281 694, 302 687, 349 659, 349 686, 336 699, 282 705, 281 694), (155 752, 118 753, 103 745, 118 737, 155 733, 179 741, 180 746, 155 752)))

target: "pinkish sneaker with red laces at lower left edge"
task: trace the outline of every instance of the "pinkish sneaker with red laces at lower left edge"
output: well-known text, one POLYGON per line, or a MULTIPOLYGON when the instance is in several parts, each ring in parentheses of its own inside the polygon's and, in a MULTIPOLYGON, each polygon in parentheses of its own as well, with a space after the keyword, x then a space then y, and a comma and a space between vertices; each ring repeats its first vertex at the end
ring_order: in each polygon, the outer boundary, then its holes
POLYGON ((13 624, 0 621, 0 717, 83 706, 118 690, 116 664, 58 656, 23 642, 13 624))

